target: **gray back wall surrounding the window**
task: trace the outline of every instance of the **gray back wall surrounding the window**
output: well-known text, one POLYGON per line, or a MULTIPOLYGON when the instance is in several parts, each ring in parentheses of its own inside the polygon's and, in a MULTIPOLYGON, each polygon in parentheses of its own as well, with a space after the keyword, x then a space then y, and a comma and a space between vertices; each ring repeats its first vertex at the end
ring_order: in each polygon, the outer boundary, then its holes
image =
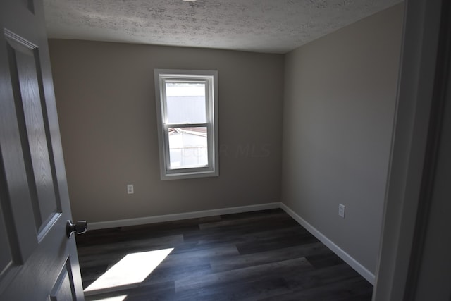
POLYGON ((62 39, 49 48, 74 219, 280 201, 282 55, 62 39), (218 70, 219 177, 160 180, 154 68, 218 70))

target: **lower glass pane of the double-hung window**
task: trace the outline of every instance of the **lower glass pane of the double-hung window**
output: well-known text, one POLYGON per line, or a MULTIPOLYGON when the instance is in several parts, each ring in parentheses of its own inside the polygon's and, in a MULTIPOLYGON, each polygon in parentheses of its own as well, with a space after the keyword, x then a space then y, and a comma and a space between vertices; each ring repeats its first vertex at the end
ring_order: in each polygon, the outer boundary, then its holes
POLYGON ((206 127, 169 128, 171 169, 208 165, 206 127))

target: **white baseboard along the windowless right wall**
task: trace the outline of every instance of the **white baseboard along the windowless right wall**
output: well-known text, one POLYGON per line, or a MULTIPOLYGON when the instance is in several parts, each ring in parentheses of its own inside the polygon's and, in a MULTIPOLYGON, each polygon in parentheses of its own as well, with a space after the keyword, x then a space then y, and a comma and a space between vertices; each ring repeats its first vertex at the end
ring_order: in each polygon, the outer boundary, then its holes
POLYGON ((288 215, 290 215, 295 221, 297 221, 301 226, 307 229, 312 235, 314 235, 316 238, 319 239, 319 241, 323 242, 326 247, 328 247, 332 252, 338 255, 341 259, 343 259, 347 264, 349 264, 352 269, 357 271, 362 277, 366 279, 366 281, 369 281, 372 285, 374 285, 375 282, 375 276, 371 271, 366 269, 362 264, 357 262, 353 257, 350 256, 350 254, 347 254, 347 252, 343 251, 338 245, 335 245, 335 243, 332 242, 332 240, 329 240, 323 233, 319 232, 314 226, 311 226, 311 224, 307 223, 304 219, 302 219, 301 216, 297 215, 295 211, 292 211, 287 205, 280 203, 280 208, 282 208, 288 215))

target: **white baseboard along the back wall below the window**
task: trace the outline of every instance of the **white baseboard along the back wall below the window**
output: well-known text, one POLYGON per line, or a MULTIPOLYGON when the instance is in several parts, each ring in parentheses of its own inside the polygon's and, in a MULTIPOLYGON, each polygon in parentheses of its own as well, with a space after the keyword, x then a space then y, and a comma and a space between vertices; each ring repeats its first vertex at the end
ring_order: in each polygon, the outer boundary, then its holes
POLYGON ((136 219, 119 219, 116 221, 99 221, 94 223, 88 223, 88 230, 115 228, 115 227, 125 227, 125 226, 137 226, 144 225, 146 223, 161 223, 162 221, 179 221, 182 219, 196 219, 199 217, 215 216, 220 214, 235 214, 249 211, 259 211, 266 209, 280 208, 280 202, 241 206, 241 207, 230 207, 222 209, 204 210, 204 211, 194 211, 180 214, 166 214, 159 216, 146 216, 139 217, 136 219))

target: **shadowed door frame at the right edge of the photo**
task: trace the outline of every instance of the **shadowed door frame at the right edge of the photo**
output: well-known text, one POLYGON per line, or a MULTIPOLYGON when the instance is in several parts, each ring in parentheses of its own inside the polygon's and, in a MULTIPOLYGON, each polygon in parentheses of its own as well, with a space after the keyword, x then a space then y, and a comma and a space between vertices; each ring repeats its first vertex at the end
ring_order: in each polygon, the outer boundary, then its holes
MULTIPOLYGON (((447 47, 451 27, 443 18, 450 11, 447 1, 405 1, 392 153, 373 293, 375 301, 415 300, 417 296, 416 285, 428 235, 426 228, 431 219, 440 131, 444 126, 442 112, 446 102, 450 105, 446 89, 450 74, 447 62, 451 54, 447 47)), ((447 195, 447 199, 450 198, 451 195, 447 195)), ((443 223, 447 229, 451 228, 451 219, 443 223)))

